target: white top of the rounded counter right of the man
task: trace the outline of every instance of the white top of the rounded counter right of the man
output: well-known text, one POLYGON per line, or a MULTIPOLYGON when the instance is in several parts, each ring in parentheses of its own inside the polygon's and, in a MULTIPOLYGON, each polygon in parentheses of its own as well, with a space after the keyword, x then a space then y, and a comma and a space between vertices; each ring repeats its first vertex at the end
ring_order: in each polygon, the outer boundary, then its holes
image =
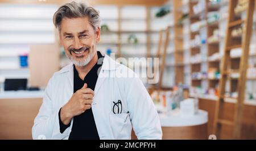
POLYGON ((208 112, 199 110, 191 117, 184 117, 180 112, 173 114, 159 114, 160 123, 162 127, 187 127, 199 126, 208 122, 208 112))

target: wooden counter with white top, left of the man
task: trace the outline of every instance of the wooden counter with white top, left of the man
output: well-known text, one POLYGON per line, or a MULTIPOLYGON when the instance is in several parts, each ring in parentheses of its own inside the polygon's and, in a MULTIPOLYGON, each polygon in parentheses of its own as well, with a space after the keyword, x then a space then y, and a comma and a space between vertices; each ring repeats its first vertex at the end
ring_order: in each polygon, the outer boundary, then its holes
POLYGON ((43 94, 43 91, 0 93, 0 140, 32 139, 32 126, 43 94))

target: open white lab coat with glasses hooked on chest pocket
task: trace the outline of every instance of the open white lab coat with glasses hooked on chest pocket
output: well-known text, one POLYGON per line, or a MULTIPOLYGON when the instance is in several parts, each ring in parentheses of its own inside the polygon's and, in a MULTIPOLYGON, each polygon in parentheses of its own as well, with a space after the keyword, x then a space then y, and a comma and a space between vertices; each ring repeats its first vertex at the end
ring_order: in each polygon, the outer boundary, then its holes
MULTIPOLYGON (((132 126, 138 139, 162 139, 158 113, 142 81, 125 75, 135 76, 132 70, 105 55, 92 103, 100 139, 131 139, 132 126), (113 113, 113 101, 118 100, 122 101, 122 114, 113 113)), ((32 127, 33 139, 68 139, 73 120, 71 126, 60 133, 58 113, 72 94, 73 64, 69 64, 48 82, 32 127)))

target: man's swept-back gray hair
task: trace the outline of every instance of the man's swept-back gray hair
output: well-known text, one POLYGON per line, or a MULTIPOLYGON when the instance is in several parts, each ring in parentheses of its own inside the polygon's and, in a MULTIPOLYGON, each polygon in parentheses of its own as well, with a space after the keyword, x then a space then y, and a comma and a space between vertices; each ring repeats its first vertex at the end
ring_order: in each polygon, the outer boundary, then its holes
POLYGON ((84 18, 88 17, 90 25, 94 31, 100 27, 101 19, 99 12, 93 7, 85 5, 85 3, 66 3, 61 6, 53 15, 53 24, 59 31, 61 30, 60 24, 64 18, 84 18))

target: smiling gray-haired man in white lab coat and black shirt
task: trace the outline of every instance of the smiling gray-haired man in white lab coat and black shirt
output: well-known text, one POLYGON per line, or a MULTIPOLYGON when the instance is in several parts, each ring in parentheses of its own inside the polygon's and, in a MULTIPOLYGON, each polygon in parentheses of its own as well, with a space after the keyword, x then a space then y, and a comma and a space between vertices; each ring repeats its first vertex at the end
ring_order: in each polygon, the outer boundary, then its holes
POLYGON ((71 2, 55 12, 53 23, 72 64, 49 80, 33 139, 130 139, 132 126, 138 139, 162 139, 158 114, 141 80, 97 51, 98 12, 71 2))

